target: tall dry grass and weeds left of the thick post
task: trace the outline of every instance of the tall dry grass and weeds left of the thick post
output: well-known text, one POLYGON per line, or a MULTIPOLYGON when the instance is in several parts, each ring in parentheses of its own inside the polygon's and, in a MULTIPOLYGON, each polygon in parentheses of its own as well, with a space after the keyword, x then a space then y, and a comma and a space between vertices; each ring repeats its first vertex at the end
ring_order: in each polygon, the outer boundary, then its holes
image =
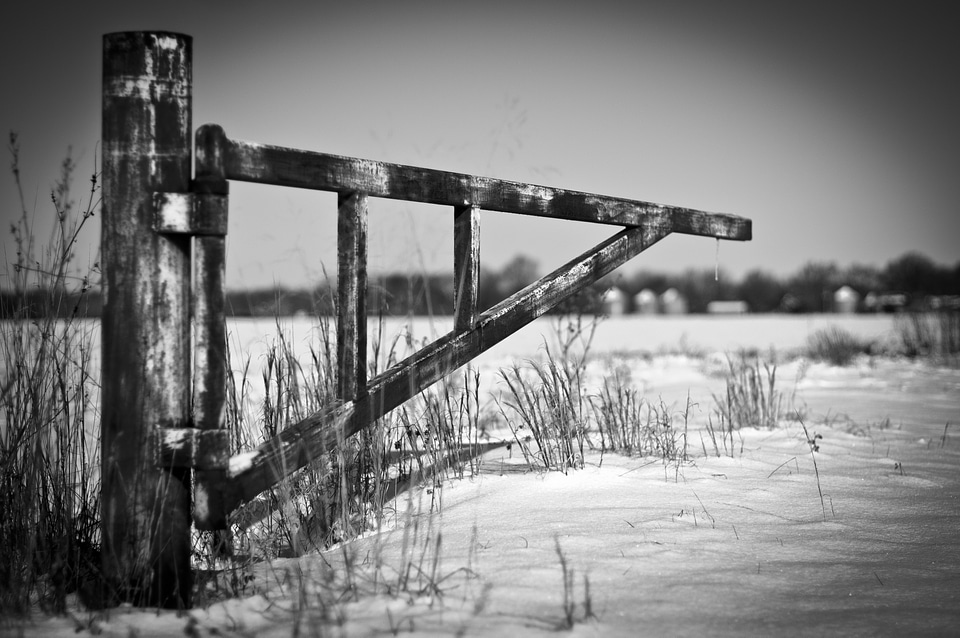
POLYGON ((19 218, 10 228, 16 256, 2 308, 0 351, 0 613, 36 604, 62 613, 67 595, 99 571, 98 394, 90 369, 92 327, 85 293, 96 267, 74 272, 73 245, 99 205, 94 174, 86 203, 71 199, 67 157, 50 197, 53 232, 35 243, 34 216, 20 184, 19 147, 10 136, 19 218))

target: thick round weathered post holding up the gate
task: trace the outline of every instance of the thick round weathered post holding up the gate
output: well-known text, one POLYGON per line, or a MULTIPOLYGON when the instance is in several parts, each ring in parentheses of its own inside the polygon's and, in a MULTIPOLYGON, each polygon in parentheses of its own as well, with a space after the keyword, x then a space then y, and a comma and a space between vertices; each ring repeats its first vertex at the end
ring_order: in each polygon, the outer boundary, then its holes
POLYGON ((102 492, 105 604, 189 607, 190 470, 156 431, 190 420, 190 237, 153 193, 190 190, 189 36, 112 33, 103 52, 102 492))

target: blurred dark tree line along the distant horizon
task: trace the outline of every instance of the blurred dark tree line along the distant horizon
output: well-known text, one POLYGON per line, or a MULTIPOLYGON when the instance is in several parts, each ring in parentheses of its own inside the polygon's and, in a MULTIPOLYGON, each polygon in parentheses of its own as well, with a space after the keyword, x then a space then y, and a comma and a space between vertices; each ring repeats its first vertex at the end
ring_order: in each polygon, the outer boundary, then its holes
MULTIPOLYGON (((535 261, 517 256, 500 270, 481 270, 478 302, 482 309, 536 281, 540 275, 535 261)), ((232 290, 227 293, 227 313, 236 317, 317 315, 334 313, 336 283, 324 283, 313 289, 271 288, 232 290)), ((670 288, 679 292, 692 313, 703 313, 711 301, 745 301, 751 312, 827 312, 834 292, 841 286, 856 291, 861 300, 870 293, 894 295, 903 303, 895 309, 923 309, 932 297, 960 296, 960 262, 953 267, 935 264, 919 253, 907 253, 882 268, 854 264, 846 268, 834 262, 809 262, 796 273, 777 277, 754 269, 736 279, 720 271, 687 270, 680 274, 639 270, 629 275, 614 273, 564 301, 555 312, 597 312, 601 295, 616 286, 628 300, 642 290, 663 294, 670 288)), ((62 291, 54 295, 44 290, 0 292, 0 317, 37 317, 56 314, 61 317, 97 317, 102 310, 100 292, 89 287, 84 292, 62 291)), ((453 275, 392 273, 371 276, 367 282, 367 312, 403 315, 449 315, 453 313, 453 275)), ((628 302, 629 305, 629 302, 628 302)), ((629 308, 632 309, 632 308, 629 308)), ((894 308, 887 308, 888 310, 894 308)))

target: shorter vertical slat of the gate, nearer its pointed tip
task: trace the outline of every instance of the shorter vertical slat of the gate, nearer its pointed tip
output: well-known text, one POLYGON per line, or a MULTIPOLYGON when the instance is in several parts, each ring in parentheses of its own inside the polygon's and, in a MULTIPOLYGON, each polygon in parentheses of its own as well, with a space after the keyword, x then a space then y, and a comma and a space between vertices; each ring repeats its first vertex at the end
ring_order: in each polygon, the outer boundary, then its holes
POLYGON ((453 212, 453 329, 458 333, 477 322, 479 285, 480 209, 457 206, 453 212))

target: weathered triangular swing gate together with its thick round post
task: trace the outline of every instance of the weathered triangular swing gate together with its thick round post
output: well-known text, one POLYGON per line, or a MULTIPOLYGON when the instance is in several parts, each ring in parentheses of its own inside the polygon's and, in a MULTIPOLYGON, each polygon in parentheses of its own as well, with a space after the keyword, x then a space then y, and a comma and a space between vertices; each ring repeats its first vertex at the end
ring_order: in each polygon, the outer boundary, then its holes
POLYGON ((242 142, 216 125, 191 148, 191 64, 189 36, 104 38, 103 548, 107 587, 122 599, 189 606, 191 512, 198 529, 226 528, 242 503, 667 235, 751 238, 750 220, 733 215, 242 142), (336 192, 339 251, 338 400, 234 457, 224 429, 231 180, 336 192), (370 197, 451 207, 455 321, 368 380, 370 197), (480 312, 481 210, 621 230, 480 312))

